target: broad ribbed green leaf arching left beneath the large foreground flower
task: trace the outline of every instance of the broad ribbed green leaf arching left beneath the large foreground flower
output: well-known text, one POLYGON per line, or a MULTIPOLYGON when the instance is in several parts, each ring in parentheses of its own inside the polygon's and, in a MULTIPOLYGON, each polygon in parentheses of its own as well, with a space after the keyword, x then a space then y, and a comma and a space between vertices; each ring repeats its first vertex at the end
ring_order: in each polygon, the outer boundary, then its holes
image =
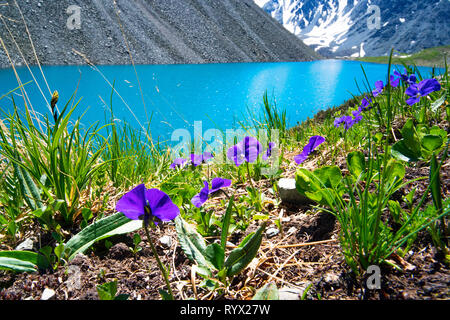
POLYGON ((141 227, 142 221, 130 220, 121 212, 100 219, 84 228, 66 243, 65 248, 68 250, 69 260, 87 250, 95 241, 133 232, 141 227))

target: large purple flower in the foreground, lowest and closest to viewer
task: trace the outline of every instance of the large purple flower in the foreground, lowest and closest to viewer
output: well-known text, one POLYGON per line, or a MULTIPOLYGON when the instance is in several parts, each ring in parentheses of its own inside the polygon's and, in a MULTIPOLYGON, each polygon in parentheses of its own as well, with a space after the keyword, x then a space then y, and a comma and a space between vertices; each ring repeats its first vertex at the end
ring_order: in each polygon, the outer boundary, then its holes
POLYGON ((129 219, 144 220, 146 226, 150 221, 158 224, 159 221, 173 220, 180 214, 180 209, 167 194, 158 189, 147 189, 144 184, 120 198, 116 210, 129 219))

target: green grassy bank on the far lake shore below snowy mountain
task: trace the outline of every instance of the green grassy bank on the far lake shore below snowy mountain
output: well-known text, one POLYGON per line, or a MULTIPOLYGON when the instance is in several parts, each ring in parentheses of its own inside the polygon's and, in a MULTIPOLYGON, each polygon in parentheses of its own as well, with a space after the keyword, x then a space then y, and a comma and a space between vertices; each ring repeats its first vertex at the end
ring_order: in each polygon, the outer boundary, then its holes
MULTIPOLYGON (((405 56, 405 58, 394 56, 392 58, 392 64, 405 63, 408 65, 415 64, 417 66, 444 67, 444 57, 447 58, 447 64, 449 63, 450 45, 424 49, 411 55, 408 55, 406 53, 398 53, 398 55, 405 56)), ((389 62, 389 57, 362 57, 353 58, 352 60, 387 64, 389 62)))

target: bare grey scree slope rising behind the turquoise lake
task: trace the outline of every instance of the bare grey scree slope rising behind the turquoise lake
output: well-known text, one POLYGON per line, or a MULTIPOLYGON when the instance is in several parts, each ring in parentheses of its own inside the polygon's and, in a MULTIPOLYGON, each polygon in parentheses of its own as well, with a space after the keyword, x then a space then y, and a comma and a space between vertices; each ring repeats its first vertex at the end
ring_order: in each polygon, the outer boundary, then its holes
MULTIPOLYGON (((0 5, 0 37, 23 63, 9 35, 36 63, 14 0, 0 5)), ((137 64, 305 61, 319 56, 252 0, 17 0, 43 64, 137 64), (117 4, 114 6, 114 2, 117 4), (80 28, 68 28, 79 7, 80 28), (117 17, 119 12, 119 19, 117 17), (70 24, 70 23, 69 23, 70 24), (121 28, 122 26, 122 28, 121 28), (127 42, 124 41, 123 33, 127 42), (76 51, 76 52, 75 52, 76 51)), ((0 66, 10 63, 0 46, 0 66)))

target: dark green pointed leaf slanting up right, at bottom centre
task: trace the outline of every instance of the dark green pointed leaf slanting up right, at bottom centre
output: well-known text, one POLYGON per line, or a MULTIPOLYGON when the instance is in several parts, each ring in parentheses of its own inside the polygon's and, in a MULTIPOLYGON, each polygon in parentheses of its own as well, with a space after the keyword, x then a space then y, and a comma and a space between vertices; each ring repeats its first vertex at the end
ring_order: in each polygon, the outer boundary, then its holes
POLYGON ((236 249, 231 251, 228 259, 225 261, 224 267, 227 270, 227 276, 231 277, 242 270, 253 260, 258 253, 261 245, 263 232, 266 229, 267 222, 263 222, 261 227, 247 240, 243 246, 239 245, 236 249))

